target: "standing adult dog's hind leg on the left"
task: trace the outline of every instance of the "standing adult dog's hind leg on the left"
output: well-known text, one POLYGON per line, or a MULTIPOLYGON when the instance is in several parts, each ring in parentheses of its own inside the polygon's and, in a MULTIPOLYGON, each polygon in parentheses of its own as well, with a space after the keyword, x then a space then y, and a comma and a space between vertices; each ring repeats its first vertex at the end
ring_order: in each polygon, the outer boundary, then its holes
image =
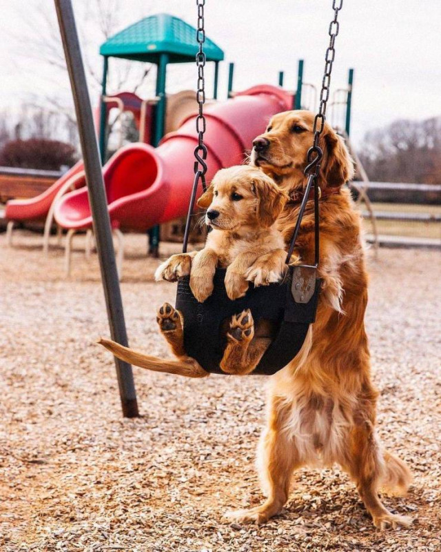
POLYGON ((226 517, 230 520, 259 524, 280 513, 288 500, 291 475, 302 466, 296 441, 287 431, 291 404, 284 403, 279 397, 272 397, 269 412, 268 426, 258 451, 259 475, 267 500, 249 510, 227 513, 226 517))

